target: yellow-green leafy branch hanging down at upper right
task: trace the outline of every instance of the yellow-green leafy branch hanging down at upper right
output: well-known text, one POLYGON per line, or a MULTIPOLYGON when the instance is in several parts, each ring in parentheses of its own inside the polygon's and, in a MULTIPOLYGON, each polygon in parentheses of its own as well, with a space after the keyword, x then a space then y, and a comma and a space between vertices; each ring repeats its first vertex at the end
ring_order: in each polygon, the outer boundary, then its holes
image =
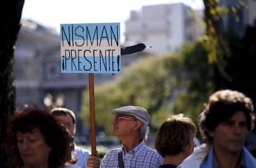
POLYGON ((235 17, 239 22, 237 11, 246 7, 244 0, 233 1, 232 6, 225 6, 219 0, 203 0, 205 5, 204 20, 206 32, 202 37, 202 44, 208 52, 208 63, 214 66, 214 84, 215 90, 226 88, 224 81, 232 82, 232 77, 227 73, 226 66, 228 62, 226 58, 231 57, 231 48, 228 41, 223 36, 229 32, 225 32, 223 27, 219 26, 221 18, 224 15, 235 17))

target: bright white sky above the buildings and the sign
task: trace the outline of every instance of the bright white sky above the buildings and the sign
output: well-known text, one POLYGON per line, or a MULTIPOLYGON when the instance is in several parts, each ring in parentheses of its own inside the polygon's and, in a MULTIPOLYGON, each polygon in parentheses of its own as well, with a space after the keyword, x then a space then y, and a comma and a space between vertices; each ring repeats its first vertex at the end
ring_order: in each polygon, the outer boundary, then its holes
POLYGON ((22 19, 30 19, 43 26, 60 31, 66 23, 120 23, 121 42, 124 41, 124 23, 131 10, 142 6, 183 2, 192 9, 203 9, 202 0, 25 0, 22 19))

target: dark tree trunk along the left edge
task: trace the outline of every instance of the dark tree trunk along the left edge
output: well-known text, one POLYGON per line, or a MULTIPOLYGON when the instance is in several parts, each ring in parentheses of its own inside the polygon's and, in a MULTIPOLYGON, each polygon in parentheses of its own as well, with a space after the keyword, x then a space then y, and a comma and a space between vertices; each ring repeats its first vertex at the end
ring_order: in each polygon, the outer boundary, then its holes
POLYGON ((7 121, 15 110, 14 49, 24 1, 0 1, 0 167, 12 167, 4 142, 7 121))

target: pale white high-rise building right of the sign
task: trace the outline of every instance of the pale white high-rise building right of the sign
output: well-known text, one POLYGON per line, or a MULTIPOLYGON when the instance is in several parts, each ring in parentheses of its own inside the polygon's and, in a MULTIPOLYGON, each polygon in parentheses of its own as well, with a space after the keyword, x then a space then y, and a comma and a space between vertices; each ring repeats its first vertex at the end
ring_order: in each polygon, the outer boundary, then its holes
POLYGON ((173 51, 187 41, 188 10, 182 3, 144 6, 141 12, 132 10, 126 21, 126 41, 152 46, 153 54, 173 51))

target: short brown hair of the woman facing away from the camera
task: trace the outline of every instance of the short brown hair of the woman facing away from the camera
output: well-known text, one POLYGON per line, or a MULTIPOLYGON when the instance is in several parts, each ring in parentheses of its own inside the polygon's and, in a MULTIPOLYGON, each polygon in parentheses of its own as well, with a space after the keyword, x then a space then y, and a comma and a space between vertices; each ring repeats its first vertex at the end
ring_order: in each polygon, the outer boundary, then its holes
POLYGON ((163 157, 179 154, 190 145, 190 135, 195 136, 196 132, 197 127, 190 118, 174 115, 156 132, 155 148, 163 157))

